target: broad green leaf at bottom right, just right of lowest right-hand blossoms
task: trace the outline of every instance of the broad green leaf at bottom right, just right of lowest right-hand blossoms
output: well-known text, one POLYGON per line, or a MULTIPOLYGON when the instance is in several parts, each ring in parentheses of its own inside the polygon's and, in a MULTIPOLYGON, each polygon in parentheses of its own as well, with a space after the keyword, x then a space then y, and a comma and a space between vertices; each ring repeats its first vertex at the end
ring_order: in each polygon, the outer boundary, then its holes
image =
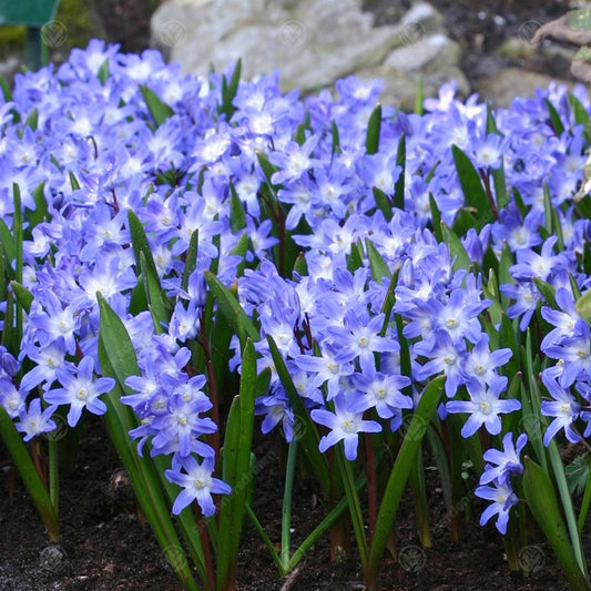
POLYGON ((570 543, 554 487, 546 471, 529 457, 523 459, 523 491, 531 514, 554 551, 572 589, 590 589, 570 543))

